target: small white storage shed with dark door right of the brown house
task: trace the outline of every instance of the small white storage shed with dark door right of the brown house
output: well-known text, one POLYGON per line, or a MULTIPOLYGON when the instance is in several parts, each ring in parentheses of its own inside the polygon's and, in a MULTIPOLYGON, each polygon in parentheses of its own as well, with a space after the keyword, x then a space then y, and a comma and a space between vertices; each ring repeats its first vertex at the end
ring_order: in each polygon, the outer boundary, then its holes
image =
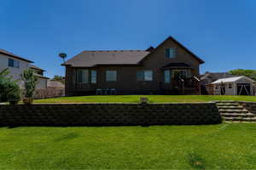
POLYGON ((212 82, 214 95, 253 95, 253 80, 248 77, 230 77, 212 82))

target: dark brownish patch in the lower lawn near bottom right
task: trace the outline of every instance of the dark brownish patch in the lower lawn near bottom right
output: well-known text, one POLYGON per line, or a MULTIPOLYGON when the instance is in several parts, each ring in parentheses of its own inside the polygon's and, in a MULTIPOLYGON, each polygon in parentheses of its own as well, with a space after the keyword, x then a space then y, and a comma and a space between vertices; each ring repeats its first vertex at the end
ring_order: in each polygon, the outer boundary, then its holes
POLYGON ((195 169, 205 169, 205 160, 196 153, 190 153, 187 157, 189 165, 195 169))

